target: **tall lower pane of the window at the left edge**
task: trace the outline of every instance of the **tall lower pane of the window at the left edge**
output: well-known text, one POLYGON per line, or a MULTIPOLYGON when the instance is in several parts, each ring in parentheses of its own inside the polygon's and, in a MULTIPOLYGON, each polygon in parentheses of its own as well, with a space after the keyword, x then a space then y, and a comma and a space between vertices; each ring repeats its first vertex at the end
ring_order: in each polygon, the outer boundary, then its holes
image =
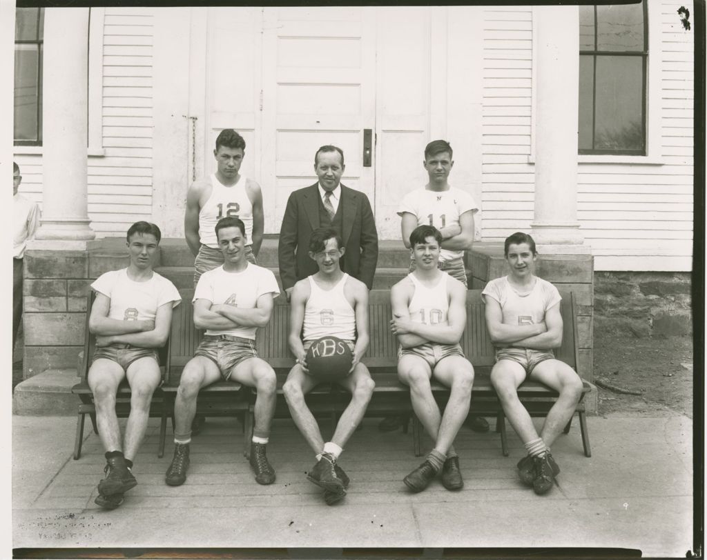
POLYGON ((37 45, 15 45, 15 139, 37 140, 37 45))

